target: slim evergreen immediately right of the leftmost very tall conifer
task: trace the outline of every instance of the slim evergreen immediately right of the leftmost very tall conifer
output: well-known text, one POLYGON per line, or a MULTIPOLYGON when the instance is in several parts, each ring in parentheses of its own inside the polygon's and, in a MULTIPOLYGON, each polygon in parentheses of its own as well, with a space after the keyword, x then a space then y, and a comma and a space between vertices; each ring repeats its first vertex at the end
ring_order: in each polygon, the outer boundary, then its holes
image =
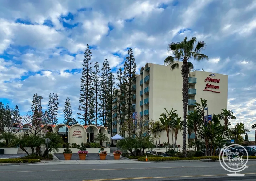
POLYGON ((100 70, 98 62, 94 64, 94 78, 93 78, 93 87, 94 87, 94 97, 95 97, 95 125, 97 126, 97 119, 98 119, 98 107, 99 107, 99 94, 100 94, 100 70))

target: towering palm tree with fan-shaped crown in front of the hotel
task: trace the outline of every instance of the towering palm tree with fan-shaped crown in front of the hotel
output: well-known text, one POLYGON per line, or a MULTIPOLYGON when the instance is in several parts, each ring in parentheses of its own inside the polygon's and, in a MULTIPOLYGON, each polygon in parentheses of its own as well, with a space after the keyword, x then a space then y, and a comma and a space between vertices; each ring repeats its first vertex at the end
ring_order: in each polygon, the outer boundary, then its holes
POLYGON ((178 69, 179 64, 175 60, 182 62, 181 75, 183 78, 182 84, 182 100, 183 100, 183 149, 186 152, 186 141, 187 141, 187 107, 188 107, 188 76, 193 65, 189 62, 189 59, 201 61, 204 59, 208 60, 208 56, 201 53, 204 50, 206 44, 203 41, 196 41, 196 37, 192 37, 187 41, 187 36, 182 42, 172 42, 168 45, 168 51, 173 56, 168 56, 164 60, 164 65, 172 64, 171 70, 178 69), (197 43, 197 44, 196 44, 197 43), (196 44, 196 46, 195 46, 196 44))

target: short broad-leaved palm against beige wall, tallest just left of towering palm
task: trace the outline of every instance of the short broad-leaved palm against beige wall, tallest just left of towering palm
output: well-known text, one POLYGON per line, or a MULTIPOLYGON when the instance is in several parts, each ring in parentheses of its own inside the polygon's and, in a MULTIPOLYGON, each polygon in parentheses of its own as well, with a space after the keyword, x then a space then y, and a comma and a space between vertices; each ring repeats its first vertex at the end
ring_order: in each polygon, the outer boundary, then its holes
POLYGON ((170 121, 173 120, 173 118, 176 116, 176 111, 177 110, 174 110, 174 111, 170 111, 168 112, 166 108, 164 108, 166 113, 165 112, 162 112, 162 114, 160 115, 161 117, 159 118, 159 120, 161 121, 161 123, 164 125, 164 128, 165 128, 165 131, 166 131, 166 134, 167 134, 167 139, 168 139, 168 145, 169 145, 169 148, 170 148, 170 142, 169 142, 169 127, 170 127, 170 121))

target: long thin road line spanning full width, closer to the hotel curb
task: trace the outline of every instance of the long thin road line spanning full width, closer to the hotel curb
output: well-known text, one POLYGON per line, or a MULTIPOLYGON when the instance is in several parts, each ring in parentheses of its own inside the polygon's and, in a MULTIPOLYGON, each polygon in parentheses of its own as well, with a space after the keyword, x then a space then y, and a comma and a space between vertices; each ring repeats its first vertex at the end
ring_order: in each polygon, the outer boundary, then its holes
MULTIPOLYGON (((247 165, 256 166, 256 165, 247 165)), ((180 167, 148 167, 148 168, 118 168, 118 169, 83 169, 83 170, 35 170, 35 171, 1 171, 0 173, 18 173, 18 172, 44 172, 44 171, 97 171, 97 170, 131 170, 131 169, 171 169, 171 168, 199 168, 199 167, 221 167, 221 166, 180 166, 180 167)))

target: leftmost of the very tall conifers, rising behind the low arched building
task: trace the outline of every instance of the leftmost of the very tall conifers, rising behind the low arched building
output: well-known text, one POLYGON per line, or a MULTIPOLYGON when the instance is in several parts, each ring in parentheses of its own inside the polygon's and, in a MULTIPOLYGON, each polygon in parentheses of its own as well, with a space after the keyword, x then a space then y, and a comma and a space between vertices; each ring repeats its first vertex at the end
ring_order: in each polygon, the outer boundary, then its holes
POLYGON ((83 60, 83 70, 82 70, 82 76, 81 76, 81 82, 80 82, 80 98, 78 106, 78 110, 81 111, 78 113, 81 119, 81 123, 84 122, 84 125, 87 125, 87 119, 88 118, 88 107, 89 107, 89 94, 90 90, 92 89, 92 52, 90 50, 89 44, 87 44, 87 47, 84 52, 84 60, 83 60))

